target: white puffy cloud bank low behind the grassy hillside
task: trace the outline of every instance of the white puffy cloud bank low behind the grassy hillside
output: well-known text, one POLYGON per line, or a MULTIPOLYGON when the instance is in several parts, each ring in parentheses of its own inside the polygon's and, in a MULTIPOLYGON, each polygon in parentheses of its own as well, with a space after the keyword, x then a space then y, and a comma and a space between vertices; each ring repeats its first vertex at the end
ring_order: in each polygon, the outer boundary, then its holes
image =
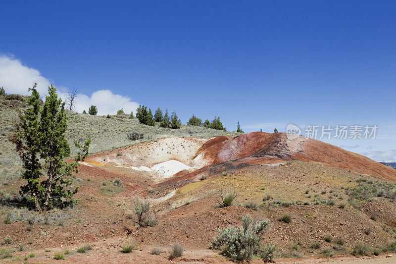
MULTIPOLYGON (((0 87, 4 87, 7 94, 29 95, 28 88, 37 83, 37 90, 40 95, 44 96, 48 91, 51 82, 45 78, 40 71, 29 68, 22 64, 13 56, 0 55, 0 87)), ((59 96, 65 100, 67 87, 56 86, 59 96)), ((139 104, 132 102, 129 97, 113 94, 110 90, 99 90, 91 96, 79 94, 76 98, 76 110, 82 112, 88 111, 90 106, 98 107, 98 114, 115 114, 121 107, 124 112, 136 112, 139 104)))

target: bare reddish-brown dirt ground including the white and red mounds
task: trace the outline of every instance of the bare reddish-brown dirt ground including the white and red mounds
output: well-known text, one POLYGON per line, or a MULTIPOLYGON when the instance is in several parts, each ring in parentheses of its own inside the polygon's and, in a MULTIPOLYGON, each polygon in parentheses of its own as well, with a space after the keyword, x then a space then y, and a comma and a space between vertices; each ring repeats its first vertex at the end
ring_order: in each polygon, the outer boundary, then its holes
MULTIPOLYGON (((249 213, 271 220, 262 242, 277 245, 277 263, 395 263, 395 255, 386 258, 391 252, 373 256, 374 249, 385 249, 396 238, 395 202, 368 190, 394 190, 396 170, 382 170, 378 162, 328 144, 291 143, 282 133, 256 133, 209 141, 159 139, 90 156, 73 176, 73 185, 80 186, 73 209, 37 213, 3 204, 1 218, 10 214, 11 223, 0 222, 0 238, 10 236, 10 241, 4 240, 0 251, 14 252, 1 262, 20 263, 34 254, 27 262, 53 263, 54 255, 63 253, 65 260, 59 263, 227 263, 209 243, 217 228, 239 226, 249 213), (194 169, 170 177, 163 174, 166 167, 152 169, 168 160, 194 169), (233 206, 216 208, 224 187, 239 196, 233 206), (156 226, 136 226, 137 196, 152 201, 156 226), (257 209, 246 208, 247 202, 257 209), (292 221, 280 221, 284 215, 292 221), (139 248, 121 253, 127 240, 139 248), (92 250, 77 253, 84 243, 92 250), (173 243, 182 244, 185 252, 169 260, 173 243), (313 248, 314 243, 319 247, 313 248), (352 256, 359 243, 370 248, 369 256, 352 256), (21 245, 23 251, 18 251, 21 245), (158 256, 150 254, 155 245, 162 247, 158 256)), ((22 183, 15 180, 5 188, 17 192, 22 183)))

